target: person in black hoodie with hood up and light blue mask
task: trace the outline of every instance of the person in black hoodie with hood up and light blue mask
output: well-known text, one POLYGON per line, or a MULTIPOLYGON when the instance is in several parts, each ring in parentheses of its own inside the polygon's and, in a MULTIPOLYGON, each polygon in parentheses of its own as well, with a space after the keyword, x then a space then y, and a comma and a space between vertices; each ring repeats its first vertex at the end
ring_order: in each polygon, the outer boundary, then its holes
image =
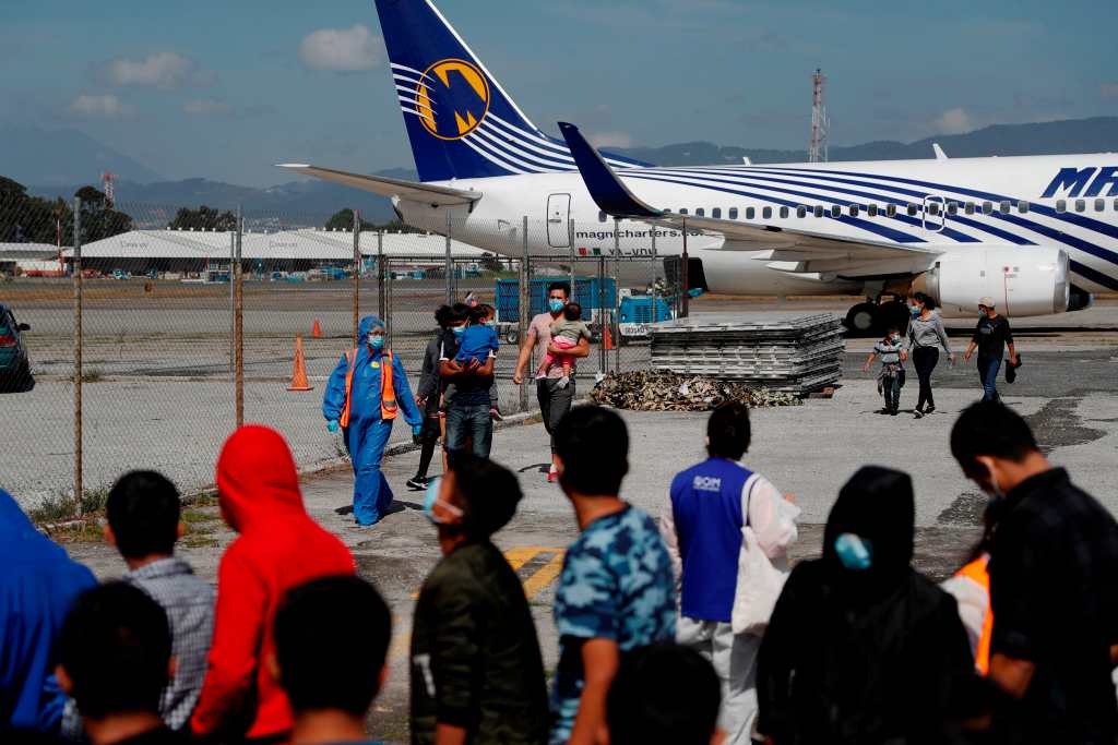
POLYGON ((957 742, 978 696, 955 600, 915 571, 912 483, 880 467, 839 494, 823 557, 793 570, 761 642, 773 745, 957 742))

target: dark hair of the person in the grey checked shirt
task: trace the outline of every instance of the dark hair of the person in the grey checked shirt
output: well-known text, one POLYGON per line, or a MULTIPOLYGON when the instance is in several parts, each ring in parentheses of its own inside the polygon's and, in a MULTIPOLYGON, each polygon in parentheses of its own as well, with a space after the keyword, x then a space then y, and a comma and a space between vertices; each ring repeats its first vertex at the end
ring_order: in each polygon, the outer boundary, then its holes
POLYGON ((125 558, 172 553, 179 539, 180 513, 179 490, 155 471, 125 474, 105 503, 108 527, 125 558))

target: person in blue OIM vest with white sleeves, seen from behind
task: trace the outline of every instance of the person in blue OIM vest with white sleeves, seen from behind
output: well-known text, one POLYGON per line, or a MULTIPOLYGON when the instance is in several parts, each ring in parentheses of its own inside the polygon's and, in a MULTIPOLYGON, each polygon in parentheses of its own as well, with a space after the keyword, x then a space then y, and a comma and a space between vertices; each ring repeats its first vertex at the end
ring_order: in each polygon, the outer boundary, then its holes
MULTIPOLYGON (((719 727, 727 745, 747 745, 757 718, 760 637, 735 634, 731 624, 743 550, 743 528, 761 551, 780 558, 796 539, 799 510, 768 479, 741 465, 749 449, 749 409, 726 403, 707 423, 710 457, 672 480, 661 529, 680 577, 678 640, 713 666, 722 684, 719 727)), ((740 601, 739 601, 740 602, 740 601)))

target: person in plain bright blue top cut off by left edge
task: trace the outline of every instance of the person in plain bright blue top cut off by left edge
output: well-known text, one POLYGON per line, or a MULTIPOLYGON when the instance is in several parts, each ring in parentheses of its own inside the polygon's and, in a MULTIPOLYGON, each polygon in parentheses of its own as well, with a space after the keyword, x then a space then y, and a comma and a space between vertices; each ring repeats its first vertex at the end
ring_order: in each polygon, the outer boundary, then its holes
POLYGON ((97 584, 0 489, 0 742, 56 733, 66 696, 55 642, 74 600, 97 584), (9 739, 10 738, 10 739, 9 739))

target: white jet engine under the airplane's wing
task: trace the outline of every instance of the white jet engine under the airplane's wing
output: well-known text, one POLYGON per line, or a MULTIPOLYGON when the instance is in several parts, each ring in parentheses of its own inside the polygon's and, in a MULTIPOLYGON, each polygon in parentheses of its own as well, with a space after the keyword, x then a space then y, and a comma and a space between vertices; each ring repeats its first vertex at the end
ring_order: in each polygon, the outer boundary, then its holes
POLYGON ((974 315, 978 298, 993 297, 998 313, 1032 316, 1071 308, 1068 255, 1058 248, 964 249, 940 256, 916 281, 945 316, 974 315))

